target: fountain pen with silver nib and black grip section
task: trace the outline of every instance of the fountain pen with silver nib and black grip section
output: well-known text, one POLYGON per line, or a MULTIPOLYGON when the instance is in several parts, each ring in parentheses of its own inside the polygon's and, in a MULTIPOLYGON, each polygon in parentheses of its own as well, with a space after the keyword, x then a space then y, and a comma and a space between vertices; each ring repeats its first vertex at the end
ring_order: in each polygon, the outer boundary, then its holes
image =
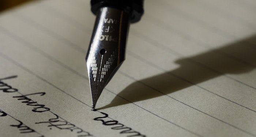
POLYGON ((92 107, 125 60, 129 24, 143 15, 143 0, 91 0, 96 15, 86 56, 92 107))

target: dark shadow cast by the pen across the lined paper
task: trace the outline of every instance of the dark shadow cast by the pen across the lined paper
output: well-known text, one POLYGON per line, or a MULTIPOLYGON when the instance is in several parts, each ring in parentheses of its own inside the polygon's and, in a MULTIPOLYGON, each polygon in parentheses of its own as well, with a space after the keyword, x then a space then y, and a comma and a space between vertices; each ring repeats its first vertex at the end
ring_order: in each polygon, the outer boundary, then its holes
POLYGON ((202 54, 176 60, 175 62, 180 65, 177 69, 128 85, 117 94, 111 103, 98 108, 98 110, 156 98, 224 74, 250 72, 255 69, 256 64, 256 44, 252 44, 253 42, 256 42, 256 35, 202 54), (236 54, 236 57, 239 58, 230 56, 231 54, 236 54), (223 56, 229 59, 223 59, 223 56), (221 72, 216 70, 221 70, 221 72), (129 102, 120 102, 120 97, 129 102))

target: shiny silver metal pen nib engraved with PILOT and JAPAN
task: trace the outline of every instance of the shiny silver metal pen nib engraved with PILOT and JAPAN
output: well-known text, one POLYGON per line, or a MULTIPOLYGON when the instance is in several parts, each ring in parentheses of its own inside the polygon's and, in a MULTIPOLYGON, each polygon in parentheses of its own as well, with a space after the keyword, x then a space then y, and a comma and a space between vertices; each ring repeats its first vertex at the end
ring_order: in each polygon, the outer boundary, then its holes
POLYGON ((119 9, 99 9, 94 25, 86 64, 95 108, 103 88, 125 60, 129 16, 119 9))

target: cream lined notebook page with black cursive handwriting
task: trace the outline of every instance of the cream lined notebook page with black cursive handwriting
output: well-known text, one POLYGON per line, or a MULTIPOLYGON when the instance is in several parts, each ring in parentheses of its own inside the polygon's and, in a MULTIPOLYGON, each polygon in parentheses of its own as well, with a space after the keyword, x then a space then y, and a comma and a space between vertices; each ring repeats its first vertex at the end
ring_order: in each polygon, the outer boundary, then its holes
POLYGON ((91 110, 89 1, 0 14, 1 136, 256 136, 256 2, 147 0, 91 110))

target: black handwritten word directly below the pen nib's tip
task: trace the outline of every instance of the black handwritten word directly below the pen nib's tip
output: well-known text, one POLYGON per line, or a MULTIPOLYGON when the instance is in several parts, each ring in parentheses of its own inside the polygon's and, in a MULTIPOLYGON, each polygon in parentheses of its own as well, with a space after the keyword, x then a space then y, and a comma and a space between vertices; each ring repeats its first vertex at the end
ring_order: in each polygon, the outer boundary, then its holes
POLYGON ((128 128, 127 126, 124 126, 123 124, 119 123, 116 120, 110 120, 110 121, 104 120, 104 118, 108 117, 108 114, 103 113, 103 112, 101 112, 101 114, 103 114, 105 116, 94 118, 94 120, 101 121, 102 124, 106 125, 106 126, 114 126, 111 129, 113 129, 113 130, 121 130, 120 134, 129 134, 127 137, 135 137, 135 136, 146 137, 145 135, 142 135, 139 132, 136 132, 133 129, 128 128))

